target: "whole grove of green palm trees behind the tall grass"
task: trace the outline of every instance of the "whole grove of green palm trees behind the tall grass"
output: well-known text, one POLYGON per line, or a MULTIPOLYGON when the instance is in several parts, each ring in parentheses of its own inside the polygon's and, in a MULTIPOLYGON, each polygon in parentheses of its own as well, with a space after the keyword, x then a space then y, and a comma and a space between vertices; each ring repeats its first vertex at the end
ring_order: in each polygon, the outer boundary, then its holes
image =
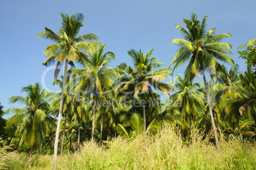
POLYGON ((83 15, 61 14, 61 18, 58 33, 45 27, 38 34, 53 42, 45 48, 43 65, 56 63, 53 84, 61 92, 31 84, 22 88, 25 97, 10 98, 10 103, 24 107, 4 110, 13 115, 3 123, 1 138, 16 143, 17 150, 30 157, 34 152, 53 154, 54 168, 57 154, 79 150, 84 141, 104 145, 117 136, 156 134, 166 123, 180 129, 188 142, 194 129, 213 134, 211 142, 217 149, 220 140, 255 140, 255 39, 239 47, 246 48, 238 52, 248 64, 245 72, 239 72, 230 57, 231 44, 222 42, 232 35, 207 30, 207 16, 200 21, 193 13, 183 20, 185 27, 174 25, 183 39, 171 40, 180 49, 169 59, 169 67, 161 67, 153 49, 146 53, 130 49, 133 65, 110 68, 115 53, 106 51, 95 34, 79 35, 83 15), (58 77, 62 64, 64 75, 58 77), (186 68, 184 76, 170 80, 178 67, 186 68), (196 82, 200 75, 203 83, 196 82))

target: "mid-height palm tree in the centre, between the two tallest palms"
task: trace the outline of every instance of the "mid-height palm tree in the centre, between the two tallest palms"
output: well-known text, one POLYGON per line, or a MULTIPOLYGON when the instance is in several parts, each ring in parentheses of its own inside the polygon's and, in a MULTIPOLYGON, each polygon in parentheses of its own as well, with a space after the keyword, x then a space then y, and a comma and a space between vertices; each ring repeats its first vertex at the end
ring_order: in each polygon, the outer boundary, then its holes
MULTIPOLYGON (((131 67, 127 67, 125 63, 118 66, 119 69, 127 70, 129 75, 122 77, 118 80, 117 96, 133 96, 134 98, 139 94, 142 98, 141 105, 143 107, 143 121, 144 129, 143 133, 146 133, 146 96, 155 98, 155 93, 152 88, 157 89, 164 95, 169 95, 169 91, 173 87, 167 83, 162 82, 171 75, 169 68, 163 67, 158 69, 162 62, 156 59, 156 57, 150 58, 153 49, 148 51, 145 55, 141 50, 136 51, 134 49, 129 50, 127 53, 132 58, 134 70, 131 67), (158 69, 158 70, 155 70, 158 69)), ((158 98, 156 100, 159 100, 158 98)), ((159 100, 160 101, 160 100, 159 100)))

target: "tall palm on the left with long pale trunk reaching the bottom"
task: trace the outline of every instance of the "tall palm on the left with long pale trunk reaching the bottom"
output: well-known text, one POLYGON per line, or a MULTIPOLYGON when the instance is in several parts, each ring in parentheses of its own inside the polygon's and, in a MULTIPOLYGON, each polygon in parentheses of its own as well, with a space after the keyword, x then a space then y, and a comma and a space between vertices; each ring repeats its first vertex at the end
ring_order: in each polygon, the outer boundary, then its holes
POLYGON ((68 62, 73 64, 73 62, 76 62, 81 58, 87 57, 88 55, 84 53, 81 49, 87 49, 92 46, 94 40, 99 41, 98 37, 94 34, 84 34, 82 36, 78 36, 81 27, 83 27, 84 16, 81 13, 77 13, 76 15, 71 16, 68 16, 64 13, 61 13, 60 15, 62 17, 62 25, 61 29, 59 29, 59 34, 55 34, 55 32, 46 27, 45 32, 41 32, 38 34, 38 37, 43 37, 45 39, 49 39, 50 41, 57 42, 57 44, 52 44, 45 48, 45 55, 46 57, 48 57, 48 59, 43 62, 43 65, 49 65, 55 60, 58 61, 54 73, 55 81, 57 81, 57 76, 60 72, 60 65, 62 62, 65 61, 64 76, 62 82, 63 85, 60 97, 60 108, 54 144, 53 169, 55 169, 57 159, 60 119, 62 115, 68 62))

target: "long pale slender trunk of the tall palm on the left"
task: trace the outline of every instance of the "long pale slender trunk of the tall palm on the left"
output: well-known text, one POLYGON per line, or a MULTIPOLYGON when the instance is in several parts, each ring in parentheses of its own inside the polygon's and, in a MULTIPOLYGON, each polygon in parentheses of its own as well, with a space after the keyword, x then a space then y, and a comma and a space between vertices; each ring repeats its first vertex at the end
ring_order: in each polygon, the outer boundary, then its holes
POLYGON ((67 70, 68 70, 68 60, 66 60, 66 62, 65 62, 62 90, 61 90, 61 94, 60 94, 60 108, 59 108, 58 122, 57 122, 56 135, 55 135, 55 141, 54 141, 53 169, 56 169, 56 160, 57 160, 57 154, 58 154, 58 143, 59 143, 59 133, 60 133, 60 121, 61 121, 62 108, 63 108, 64 90, 65 90, 65 86, 66 86, 67 70))

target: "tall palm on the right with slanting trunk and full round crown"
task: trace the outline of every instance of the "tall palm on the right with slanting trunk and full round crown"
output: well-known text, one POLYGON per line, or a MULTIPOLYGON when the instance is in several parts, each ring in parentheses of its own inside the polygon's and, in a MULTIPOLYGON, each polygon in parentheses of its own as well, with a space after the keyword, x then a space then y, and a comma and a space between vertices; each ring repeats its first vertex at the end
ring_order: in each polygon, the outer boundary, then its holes
POLYGON ((229 56, 224 55, 224 53, 232 55, 232 52, 230 51, 232 48, 231 44, 221 42, 227 37, 232 37, 232 35, 216 35, 216 28, 206 32, 206 21, 207 16, 204 16, 203 22, 200 22, 197 19, 197 15, 193 13, 190 20, 183 19, 183 22, 187 26, 187 30, 180 25, 175 25, 176 29, 180 30, 185 39, 171 40, 171 42, 177 44, 181 48, 176 52, 170 65, 176 63, 173 68, 173 70, 176 70, 189 60, 187 69, 185 70, 185 79, 187 81, 193 81, 196 78, 196 75, 200 73, 203 75, 207 101, 210 108, 211 123, 215 134, 216 145, 217 148, 219 148, 213 112, 211 110, 210 96, 208 93, 208 85, 204 71, 217 75, 217 66, 219 63, 216 59, 227 63, 234 63, 229 56))

